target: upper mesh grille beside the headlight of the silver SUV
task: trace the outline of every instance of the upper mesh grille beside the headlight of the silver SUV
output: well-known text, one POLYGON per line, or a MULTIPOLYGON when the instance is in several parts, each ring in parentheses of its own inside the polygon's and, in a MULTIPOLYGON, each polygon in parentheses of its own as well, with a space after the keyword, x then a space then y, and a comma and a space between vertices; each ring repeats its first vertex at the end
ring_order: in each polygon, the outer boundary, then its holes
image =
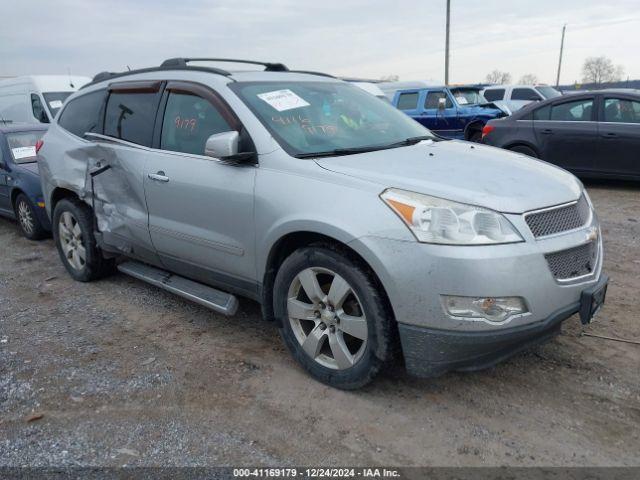
POLYGON ((571 205, 529 213, 525 216, 525 221, 536 238, 575 230, 589 221, 589 203, 581 195, 571 205))

